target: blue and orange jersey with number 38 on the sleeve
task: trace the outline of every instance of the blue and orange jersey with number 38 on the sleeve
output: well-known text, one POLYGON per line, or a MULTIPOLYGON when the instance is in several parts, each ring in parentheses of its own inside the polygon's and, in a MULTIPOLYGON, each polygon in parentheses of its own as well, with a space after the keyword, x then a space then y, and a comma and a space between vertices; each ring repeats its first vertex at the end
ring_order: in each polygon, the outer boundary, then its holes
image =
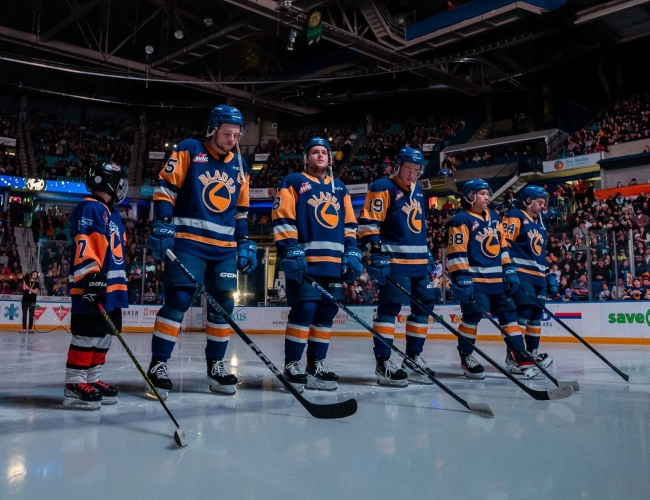
POLYGON ((452 278, 467 275, 475 290, 502 294, 502 266, 511 262, 508 249, 502 247, 499 215, 489 209, 483 215, 463 211, 449 221, 448 228, 447 267, 452 278))

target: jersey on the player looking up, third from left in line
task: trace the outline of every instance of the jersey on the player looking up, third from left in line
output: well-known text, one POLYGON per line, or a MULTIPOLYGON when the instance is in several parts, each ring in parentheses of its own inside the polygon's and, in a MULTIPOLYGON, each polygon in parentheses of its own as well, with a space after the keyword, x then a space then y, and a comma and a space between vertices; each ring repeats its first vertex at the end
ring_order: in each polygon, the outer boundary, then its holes
POLYGON ((305 250, 307 272, 341 276, 346 248, 357 248, 357 219, 345 184, 307 173, 285 177, 273 204, 273 238, 280 255, 287 247, 305 250))

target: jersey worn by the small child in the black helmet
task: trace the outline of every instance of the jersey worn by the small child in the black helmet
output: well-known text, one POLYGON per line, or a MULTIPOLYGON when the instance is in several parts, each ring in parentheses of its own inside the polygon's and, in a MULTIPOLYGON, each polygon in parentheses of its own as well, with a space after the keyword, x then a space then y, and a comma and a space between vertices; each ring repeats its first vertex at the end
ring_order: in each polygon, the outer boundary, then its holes
POLYGON ((104 309, 128 307, 126 234, 118 210, 112 212, 95 198, 85 198, 70 214, 70 295, 72 312, 97 313, 82 301, 84 279, 91 273, 103 273, 108 279, 104 309))

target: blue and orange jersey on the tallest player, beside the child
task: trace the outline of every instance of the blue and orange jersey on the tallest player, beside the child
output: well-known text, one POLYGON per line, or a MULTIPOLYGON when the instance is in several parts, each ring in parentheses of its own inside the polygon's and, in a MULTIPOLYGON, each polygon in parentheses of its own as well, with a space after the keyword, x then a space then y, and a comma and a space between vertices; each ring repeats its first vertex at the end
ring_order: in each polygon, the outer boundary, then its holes
POLYGON ((237 155, 186 139, 174 147, 154 191, 156 218, 176 225, 174 247, 206 260, 234 259, 237 241, 248 236, 249 173, 237 155))

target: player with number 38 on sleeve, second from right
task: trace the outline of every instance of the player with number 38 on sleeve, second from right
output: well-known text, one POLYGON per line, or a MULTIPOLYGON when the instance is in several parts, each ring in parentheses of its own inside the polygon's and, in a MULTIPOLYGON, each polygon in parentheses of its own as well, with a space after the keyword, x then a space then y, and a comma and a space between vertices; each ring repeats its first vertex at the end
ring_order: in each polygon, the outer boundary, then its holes
MULTIPOLYGON (((502 225, 498 214, 490 210, 490 186, 483 179, 467 182, 462 189, 464 211, 449 221, 447 265, 452 276, 452 293, 460 301, 463 318, 458 331, 469 341, 458 341, 461 366, 468 378, 485 377, 483 366, 474 358, 471 347, 476 342, 482 312, 472 299, 499 323, 511 338, 506 345, 513 353, 524 349, 517 324, 517 308, 510 298, 519 286, 517 270, 512 265, 508 247, 502 242, 502 225), (504 294, 505 292, 505 294, 504 294)), ((519 369, 532 378, 539 370, 521 354, 513 354, 519 369)))

